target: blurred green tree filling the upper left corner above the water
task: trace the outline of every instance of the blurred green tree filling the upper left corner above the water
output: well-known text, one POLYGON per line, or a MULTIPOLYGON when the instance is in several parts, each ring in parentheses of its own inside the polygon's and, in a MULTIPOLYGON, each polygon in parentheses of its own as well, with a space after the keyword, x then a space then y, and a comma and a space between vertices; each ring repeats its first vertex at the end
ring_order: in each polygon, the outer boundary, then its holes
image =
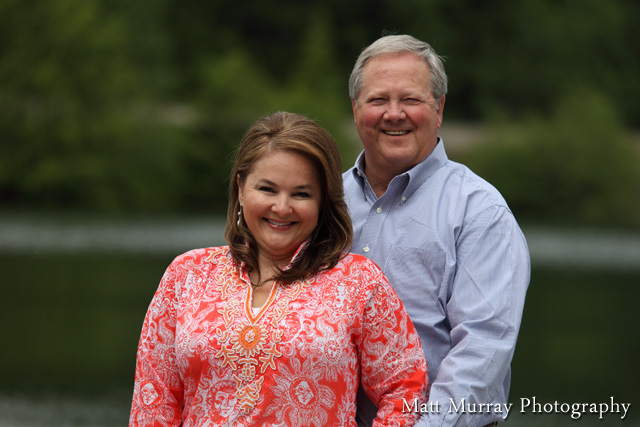
POLYGON ((97 0, 7 0, 0 17, 3 205, 166 208, 179 137, 142 114, 154 79, 132 60, 126 15, 97 0))

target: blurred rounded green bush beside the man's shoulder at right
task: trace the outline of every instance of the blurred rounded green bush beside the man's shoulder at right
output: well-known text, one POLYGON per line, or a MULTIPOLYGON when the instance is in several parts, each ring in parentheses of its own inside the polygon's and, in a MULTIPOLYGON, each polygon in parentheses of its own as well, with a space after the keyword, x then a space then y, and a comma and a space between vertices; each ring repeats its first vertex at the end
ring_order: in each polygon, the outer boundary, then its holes
POLYGON ((563 96, 550 117, 496 119, 463 160, 521 220, 640 226, 640 152, 610 100, 592 90, 563 96))

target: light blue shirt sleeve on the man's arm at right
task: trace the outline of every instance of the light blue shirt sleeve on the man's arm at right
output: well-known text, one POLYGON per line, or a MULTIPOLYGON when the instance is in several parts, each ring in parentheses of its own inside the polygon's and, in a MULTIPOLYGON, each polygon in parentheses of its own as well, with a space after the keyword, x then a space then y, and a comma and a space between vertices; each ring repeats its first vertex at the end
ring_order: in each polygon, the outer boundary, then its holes
POLYGON ((464 224, 456 256, 447 302, 452 348, 430 396, 441 410, 423 414, 419 427, 484 426, 504 417, 494 405, 490 413, 474 414, 460 410, 460 404, 506 403, 504 382, 509 380, 530 278, 527 244, 511 212, 492 207, 464 224))

